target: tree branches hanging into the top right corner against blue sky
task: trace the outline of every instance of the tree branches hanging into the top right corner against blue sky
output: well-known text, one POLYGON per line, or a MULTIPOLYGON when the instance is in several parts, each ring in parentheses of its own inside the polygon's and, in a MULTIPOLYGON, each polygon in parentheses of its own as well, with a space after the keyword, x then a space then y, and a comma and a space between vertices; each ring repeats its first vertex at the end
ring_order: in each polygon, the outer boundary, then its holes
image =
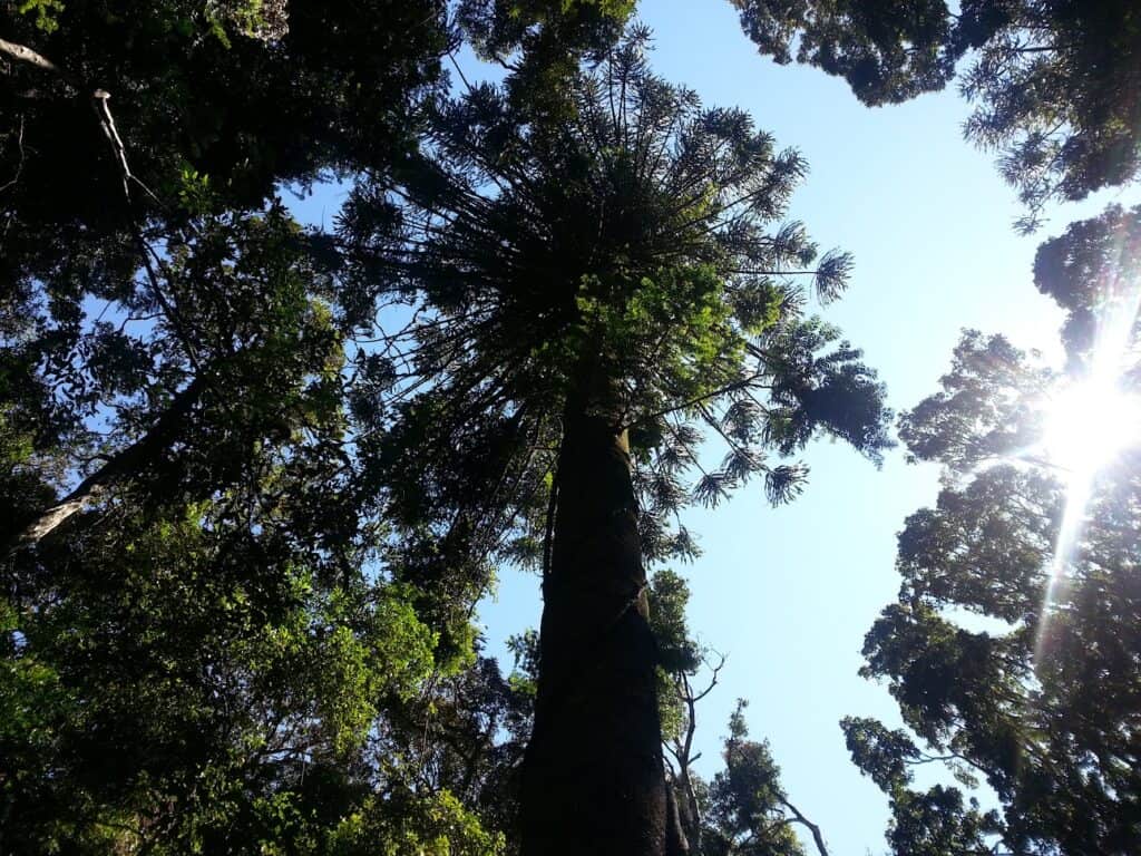
POLYGON ((977 107, 966 138, 1000 170, 1033 227, 1141 169, 1141 13, 1131 0, 731 0, 761 53, 844 78, 890 104, 958 75, 977 107), (965 66, 965 67, 964 67, 965 66))

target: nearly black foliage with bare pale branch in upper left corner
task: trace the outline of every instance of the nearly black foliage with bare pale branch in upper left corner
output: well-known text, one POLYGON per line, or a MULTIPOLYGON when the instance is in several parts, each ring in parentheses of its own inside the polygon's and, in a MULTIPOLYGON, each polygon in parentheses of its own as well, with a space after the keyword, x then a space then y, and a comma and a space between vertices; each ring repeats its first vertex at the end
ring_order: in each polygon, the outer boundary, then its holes
MULTIPOLYGON (((6 6, 8 275, 63 293, 60 257, 86 257, 88 276, 121 281, 138 264, 131 224, 179 223, 180 200, 257 208, 278 183, 387 162, 410 145, 413 98, 438 86, 444 13, 437 0, 6 6)), ((78 275, 66 293, 84 288, 78 275)))

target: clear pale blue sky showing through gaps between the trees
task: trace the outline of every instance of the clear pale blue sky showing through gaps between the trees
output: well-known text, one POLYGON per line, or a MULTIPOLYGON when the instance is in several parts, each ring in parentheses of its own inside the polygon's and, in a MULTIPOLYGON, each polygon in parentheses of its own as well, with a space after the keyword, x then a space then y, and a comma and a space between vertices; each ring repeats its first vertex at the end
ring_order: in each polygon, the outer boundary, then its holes
MULTIPOLYGON (((639 16, 655 33, 657 73, 705 104, 746 108, 806 155, 811 171, 790 216, 823 249, 856 259, 849 293, 823 315, 865 349, 897 411, 936 390, 963 328, 1059 358, 1061 316, 1034 289, 1034 251, 1069 221, 1110 201, 1135 202, 1136 193, 1068 205, 1038 234, 1019 236, 1012 224, 1022 211, 993 155, 962 140, 969 108, 955 91, 869 110, 840 80, 759 56, 725 0, 641 0, 639 16)), ((461 65, 471 79, 488 75, 469 54, 461 65)), ((293 207, 331 225, 341 195, 326 187, 293 207)), ((823 442, 803 460, 811 479, 788 507, 769 508, 752 485, 715 510, 683 516, 704 549, 677 568, 693 589, 690 627, 728 657, 698 711, 697 767, 718 768, 729 712, 746 697, 753 736, 770 741, 790 799, 822 826, 831 853, 881 854, 887 800, 850 762, 837 722, 855 714, 899 725, 887 689, 858 677, 859 649, 898 589, 896 533, 934 501, 938 471, 905 465, 899 450, 877 470, 823 442)), ((540 608, 537 578, 504 571, 479 615, 505 665, 503 639, 537 627, 540 608)))

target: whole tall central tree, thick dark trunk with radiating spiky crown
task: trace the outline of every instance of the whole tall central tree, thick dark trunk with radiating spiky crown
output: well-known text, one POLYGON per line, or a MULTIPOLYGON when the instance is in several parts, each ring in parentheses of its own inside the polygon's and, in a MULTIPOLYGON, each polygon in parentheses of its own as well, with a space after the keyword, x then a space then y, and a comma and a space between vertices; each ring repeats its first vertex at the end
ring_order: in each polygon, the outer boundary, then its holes
POLYGON ((519 550, 543 567, 525 854, 666 848, 644 562, 690 549, 675 510, 754 475, 790 498, 803 473, 766 450, 818 433, 888 443, 881 386, 794 284, 836 297, 848 257, 770 231, 803 162, 655 78, 646 40, 534 107, 489 86, 442 103, 432 156, 357 187, 340 235, 416 307, 385 339, 397 410, 369 442, 394 522, 430 544, 421 579, 478 586, 519 550), (729 452, 688 491, 698 426, 729 452))

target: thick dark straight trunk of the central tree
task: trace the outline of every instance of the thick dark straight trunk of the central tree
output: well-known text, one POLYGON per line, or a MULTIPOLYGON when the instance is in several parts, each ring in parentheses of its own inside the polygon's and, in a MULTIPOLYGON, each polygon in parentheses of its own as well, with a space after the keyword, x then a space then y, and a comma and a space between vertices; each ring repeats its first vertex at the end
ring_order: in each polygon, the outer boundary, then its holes
MULTIPOLYGON (((558 462, 523 856, 663 856, 666 785, 630 449, 580 382, 558 462)), ((593 389, 592 389, 593 387, 593 389)))

